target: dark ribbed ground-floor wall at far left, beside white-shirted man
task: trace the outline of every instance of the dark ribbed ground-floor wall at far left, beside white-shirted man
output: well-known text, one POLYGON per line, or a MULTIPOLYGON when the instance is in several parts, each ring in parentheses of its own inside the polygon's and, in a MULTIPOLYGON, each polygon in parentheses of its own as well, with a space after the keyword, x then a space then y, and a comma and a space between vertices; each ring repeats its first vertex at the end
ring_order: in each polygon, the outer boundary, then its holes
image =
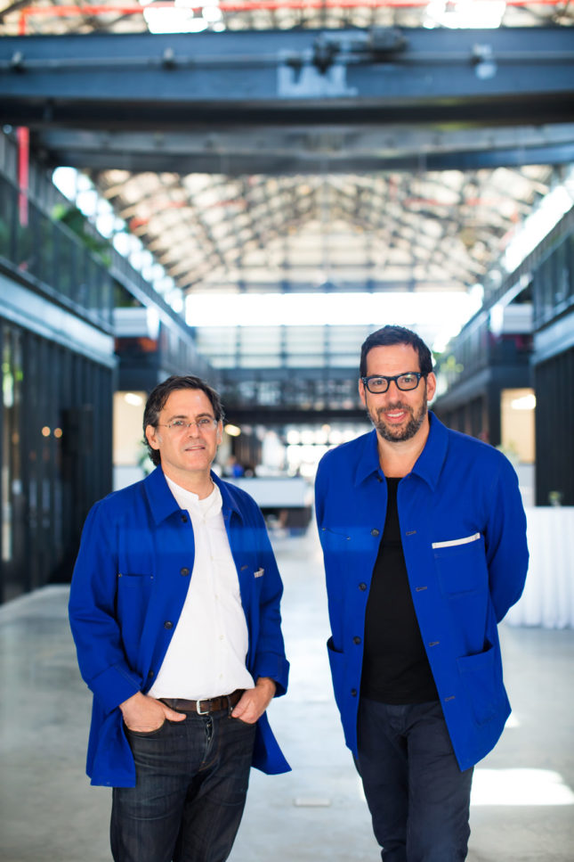
POLYGON ((112 370, 0 318, 0 600, 68 581, 111 488, 112 370))

